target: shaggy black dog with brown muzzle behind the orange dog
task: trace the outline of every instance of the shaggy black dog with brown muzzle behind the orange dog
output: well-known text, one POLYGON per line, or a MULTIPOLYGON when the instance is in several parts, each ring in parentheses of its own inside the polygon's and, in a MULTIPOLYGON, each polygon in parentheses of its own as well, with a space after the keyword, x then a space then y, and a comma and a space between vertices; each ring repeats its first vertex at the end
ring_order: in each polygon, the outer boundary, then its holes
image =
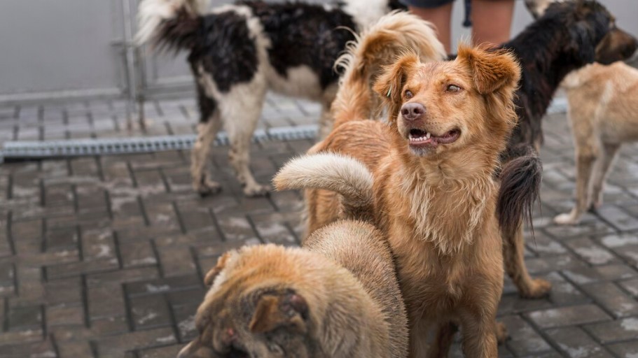
POLYGON ((509 50, 521 64, 520 88, 516 93, 518 126, 509 140, 502 161, 527 162, 526 166, 513 166, 517 171, 507 173, 513 178, 501 185, 499 213, 501 223, 515 223, 514 227, 501 224, 506 243, 505 267, 521 296, 536 298, 549 292, 546 280, 532 280, 525 268, 525 243, 520 224, 520 206, 529 206, 511 194, 524 192, 522 187, 538 187, 541 178, 537 152, 543 141, 541 119, 553 94, 567 73, 585 64, 597 61, 610 63, 625 59, 636 50, 636 40, 616 27, 613 15, 596 1, 559 1, 548 4, 545 0, 527 0, 532 13, 545 13, 536 22, 501 49, 509 50), (506 200, 510 198, 511 200, 506 200), (514 210, 511 210, 514 208, 514 210), (518 217, 518 220, 516 218, 518 217), (512 236, 512 237, 510 237, 512 236))

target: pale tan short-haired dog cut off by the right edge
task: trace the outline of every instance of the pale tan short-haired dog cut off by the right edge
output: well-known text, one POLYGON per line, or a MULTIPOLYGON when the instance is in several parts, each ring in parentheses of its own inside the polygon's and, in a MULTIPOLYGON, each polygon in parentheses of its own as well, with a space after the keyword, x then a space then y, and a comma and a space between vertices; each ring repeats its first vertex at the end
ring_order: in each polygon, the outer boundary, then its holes
POLYGON ((567 75, 567 92, 576 146, 576 205, 557 215, 557 224, 577 224, 602 204, 604 181, 622 143, 638 141, 638 70, 623 62, 590 64, 567 75))

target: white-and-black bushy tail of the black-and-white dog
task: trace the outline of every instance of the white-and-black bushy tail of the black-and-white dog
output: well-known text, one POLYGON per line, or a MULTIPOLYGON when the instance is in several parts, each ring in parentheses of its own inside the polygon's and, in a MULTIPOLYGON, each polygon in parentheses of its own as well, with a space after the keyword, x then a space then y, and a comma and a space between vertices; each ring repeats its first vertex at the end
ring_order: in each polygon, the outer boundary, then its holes
POLYGON ((198 39, 200 15, 209 6, 210 0, 142 0, 135 42, 157 50, 192 48, 198 39))

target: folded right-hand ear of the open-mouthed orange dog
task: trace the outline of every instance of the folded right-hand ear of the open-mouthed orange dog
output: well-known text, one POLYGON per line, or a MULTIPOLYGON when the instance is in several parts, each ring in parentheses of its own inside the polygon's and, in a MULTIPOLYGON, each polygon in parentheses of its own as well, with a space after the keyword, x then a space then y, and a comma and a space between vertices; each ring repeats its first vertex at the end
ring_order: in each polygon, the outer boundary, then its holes
POLYGON ((480 94, 490 94, 504 86, 518 85, 520 66, 510 52, 460 45, 457 61, 469 68, 480 94))

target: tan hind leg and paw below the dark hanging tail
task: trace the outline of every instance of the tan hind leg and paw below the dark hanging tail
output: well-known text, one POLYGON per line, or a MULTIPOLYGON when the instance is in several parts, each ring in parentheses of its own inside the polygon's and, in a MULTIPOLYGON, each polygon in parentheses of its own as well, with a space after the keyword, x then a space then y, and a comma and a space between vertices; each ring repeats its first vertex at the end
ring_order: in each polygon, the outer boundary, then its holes
POLYGON ((518 294, 527 299, 539 299, 546 296, 552 285, 541 278, 532 279, 525 266, 525 238, 522 226, 515 231, 513 238, 504 238, 503 258, 505 271, 518 288, 518 294))

